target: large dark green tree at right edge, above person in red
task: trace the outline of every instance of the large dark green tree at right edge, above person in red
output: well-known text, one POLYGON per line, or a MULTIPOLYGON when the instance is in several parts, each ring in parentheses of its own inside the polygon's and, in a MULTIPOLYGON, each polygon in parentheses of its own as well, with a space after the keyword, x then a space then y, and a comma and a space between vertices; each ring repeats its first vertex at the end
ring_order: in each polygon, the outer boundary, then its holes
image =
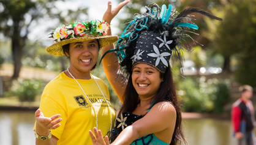
POLYGON ((216 13, 222 15, 224 21, 214 23, 208 20, 209 32, 206 35, 212 40, 216 52, 225 58, 235 55, 238 59, 236 81, 255 87, 256 1, 235 0, 216 13))

